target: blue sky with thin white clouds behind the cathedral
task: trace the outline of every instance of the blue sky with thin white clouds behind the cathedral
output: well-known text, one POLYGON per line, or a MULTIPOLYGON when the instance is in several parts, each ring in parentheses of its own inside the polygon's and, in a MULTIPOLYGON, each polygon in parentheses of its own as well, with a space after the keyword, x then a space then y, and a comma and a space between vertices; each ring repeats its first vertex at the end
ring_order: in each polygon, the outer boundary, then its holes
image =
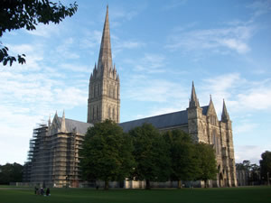
MULTIPOLYGON (((62 1, 68 5, 72 1, 62 1)), ((236 161, 271 150, 271 1, 77 1, 78 12, 0 39, 25 65, 0 65, 0 164, 23 163, 33 127, 56 110, 87 120, 89 76, 107 3, 121 122, 225 98, 236 161)))

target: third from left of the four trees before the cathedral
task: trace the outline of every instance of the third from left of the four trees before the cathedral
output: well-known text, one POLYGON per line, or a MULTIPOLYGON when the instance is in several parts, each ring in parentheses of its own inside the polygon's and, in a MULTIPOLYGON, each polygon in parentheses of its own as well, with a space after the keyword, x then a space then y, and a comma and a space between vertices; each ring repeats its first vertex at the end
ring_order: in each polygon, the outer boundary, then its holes
POLYGON ((199 169, 195 159, 195 145, 189 134, 181 130, 167 131, 164 139, 170 144, 172 162, 171 180, 178 181, 178 188, 182 188, 182 180, 195 180, 199 169))

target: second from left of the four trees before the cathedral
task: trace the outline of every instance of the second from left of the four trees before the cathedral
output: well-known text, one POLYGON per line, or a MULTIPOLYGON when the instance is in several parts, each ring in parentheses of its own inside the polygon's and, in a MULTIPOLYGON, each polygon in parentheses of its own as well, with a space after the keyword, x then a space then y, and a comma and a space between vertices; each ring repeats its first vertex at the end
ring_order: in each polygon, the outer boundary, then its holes
POLYGON ((144 124, 129 132, 134 143, 136 180, 145 180, 145 189, 151 189, 150 181, 168 180, 170 176, 169 146, 153 125, 144 124))

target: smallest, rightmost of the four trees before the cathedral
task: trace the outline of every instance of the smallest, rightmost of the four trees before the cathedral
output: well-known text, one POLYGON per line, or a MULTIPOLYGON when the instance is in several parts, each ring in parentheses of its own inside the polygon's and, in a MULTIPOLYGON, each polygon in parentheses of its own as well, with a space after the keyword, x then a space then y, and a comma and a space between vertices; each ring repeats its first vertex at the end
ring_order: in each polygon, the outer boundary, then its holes
POLYGON ((217 177, 217 161, 214 149, 207 143, 196 143, 196 157, 199 167, 198 180, 204 180, 207 188, 207 180, 215 180, 217 177))

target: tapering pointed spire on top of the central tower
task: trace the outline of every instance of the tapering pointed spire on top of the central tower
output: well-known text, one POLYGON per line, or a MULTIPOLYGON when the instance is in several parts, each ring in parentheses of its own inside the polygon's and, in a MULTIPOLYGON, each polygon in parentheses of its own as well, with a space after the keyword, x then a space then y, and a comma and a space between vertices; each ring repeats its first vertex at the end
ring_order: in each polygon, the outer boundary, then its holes
POLYGON ((110 69, 112 68, 112 55, 111 55, 111 42, 110 42, 110 30, 108 20, 108 5, 107 14, 103 30, 103 36, 101 39, 99 56, 98 56, 98 69, 110 69))

